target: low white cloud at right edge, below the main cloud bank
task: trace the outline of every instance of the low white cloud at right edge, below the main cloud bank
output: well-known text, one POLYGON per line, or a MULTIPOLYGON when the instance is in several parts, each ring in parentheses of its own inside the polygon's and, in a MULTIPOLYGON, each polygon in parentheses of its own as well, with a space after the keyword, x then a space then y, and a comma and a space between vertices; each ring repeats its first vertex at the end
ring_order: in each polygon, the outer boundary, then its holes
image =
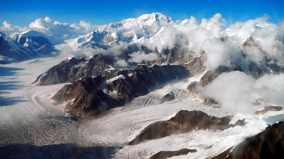
POLYGON ((284 74, 264 75, 254 79, 243 72, 222 73, 211 84, 201 88, 201 95, 217 100, 222 107, 242 113, 253 113, 257 99, 283 106, 284 74))

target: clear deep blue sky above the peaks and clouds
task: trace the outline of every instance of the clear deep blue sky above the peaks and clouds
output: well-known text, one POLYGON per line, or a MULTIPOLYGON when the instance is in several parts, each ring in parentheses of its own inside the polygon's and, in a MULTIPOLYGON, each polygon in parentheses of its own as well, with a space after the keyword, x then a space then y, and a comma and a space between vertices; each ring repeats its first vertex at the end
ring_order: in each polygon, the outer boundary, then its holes
POLYGON ((228 24, 247 21, 268 14, 269 22, 279 24, 284 20, 284 1, 10 1, 0 0, 0 27, 6 20, 10 24, 28 27, 32 21, 46 16, 60 22, 91 25, 108 25, 125 18, 161 12, 174 20, 184 20, 191 15, 201 20, 221 13, 228 24))

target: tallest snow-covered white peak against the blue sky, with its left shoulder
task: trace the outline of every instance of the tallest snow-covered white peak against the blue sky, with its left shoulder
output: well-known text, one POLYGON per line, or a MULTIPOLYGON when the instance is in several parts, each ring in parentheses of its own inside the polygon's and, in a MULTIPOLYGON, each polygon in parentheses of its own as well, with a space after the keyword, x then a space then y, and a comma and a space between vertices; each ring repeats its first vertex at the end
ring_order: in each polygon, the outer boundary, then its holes
POLYGON ((137 18, 123 19, 116 23, 112 22, 103 31, 93 31, 65 42, 73 49, 82 49, 88 44, 109 46, 118 41, 132 42, 141 38, 150 38, 163 27, 174 24, 174 22, 171 17, 161 13, 144 14, 137 18))

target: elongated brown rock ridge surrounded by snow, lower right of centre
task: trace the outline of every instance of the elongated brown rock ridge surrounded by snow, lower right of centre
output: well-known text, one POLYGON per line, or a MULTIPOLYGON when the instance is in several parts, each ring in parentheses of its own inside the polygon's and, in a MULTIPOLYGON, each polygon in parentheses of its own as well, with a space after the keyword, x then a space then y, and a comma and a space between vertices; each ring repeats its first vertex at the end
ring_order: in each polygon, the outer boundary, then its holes
MULTIPOLYGON (((171 134, 186 133, 196 129, 224 130, 233 126, 229 124, 232 116, 214 117, 203 111, 181 110, 176 116, 167 121, 155 122, 144 128, 129 145, 135 145, 145 140, 154 140, 167 137, 171 134)), ((234 126, 244 125, 244 120, 238 121, 234 126)))

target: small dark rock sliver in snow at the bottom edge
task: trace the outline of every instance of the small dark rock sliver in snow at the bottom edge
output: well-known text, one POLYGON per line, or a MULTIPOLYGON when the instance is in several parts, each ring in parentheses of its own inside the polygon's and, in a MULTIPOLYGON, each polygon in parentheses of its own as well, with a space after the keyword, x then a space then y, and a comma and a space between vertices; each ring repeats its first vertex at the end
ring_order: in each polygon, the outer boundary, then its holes
POLYGON ((164 158, 169 158, 173 156, 186 155, 187 153, 190 153, 190 152, 197 152, 197 150, 183 148, 177 151, 160 151, 154 154, 153 156, 151 156, 149 159, 164 159, 164 158))

